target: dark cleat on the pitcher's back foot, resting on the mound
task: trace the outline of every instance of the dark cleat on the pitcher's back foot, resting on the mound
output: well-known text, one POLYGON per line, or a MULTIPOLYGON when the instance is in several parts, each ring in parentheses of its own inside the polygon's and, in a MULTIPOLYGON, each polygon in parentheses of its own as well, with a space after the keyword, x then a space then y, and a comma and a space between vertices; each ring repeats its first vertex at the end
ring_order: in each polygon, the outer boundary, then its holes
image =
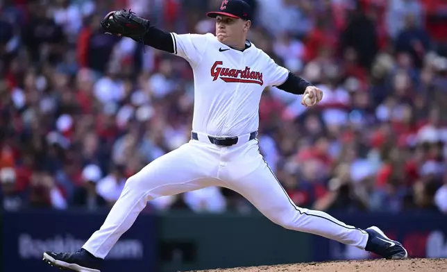
POLYGON ((391 240, 376 226, 367 228, 368 243, 366 251, 376 253, 385 259, 405 259, 408 257, 407 250, 398 241, 391 240))

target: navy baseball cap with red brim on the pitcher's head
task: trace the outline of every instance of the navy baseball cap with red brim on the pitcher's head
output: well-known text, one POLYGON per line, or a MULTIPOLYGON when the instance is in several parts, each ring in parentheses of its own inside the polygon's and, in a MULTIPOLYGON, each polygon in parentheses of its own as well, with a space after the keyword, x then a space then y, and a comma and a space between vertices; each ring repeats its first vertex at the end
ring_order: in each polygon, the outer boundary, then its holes
POLYGON ((206 14, 208 17, 215 18, 217 15, 224 15, 237 19, 251 20, 253 11, 251 7, 243 0, 223 0, 216 11, 206 14))

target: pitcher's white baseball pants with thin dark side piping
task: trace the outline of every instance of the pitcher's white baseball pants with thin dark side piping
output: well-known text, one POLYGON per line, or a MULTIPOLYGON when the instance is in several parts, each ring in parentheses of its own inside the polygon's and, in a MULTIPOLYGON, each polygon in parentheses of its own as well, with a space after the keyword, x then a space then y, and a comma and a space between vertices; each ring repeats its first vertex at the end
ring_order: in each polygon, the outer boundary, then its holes
POLYGON ((133 225, 147 201, 208 186, 232 189, 278 225, 362 248, 368 234, 325 212, 296 207, 259 152, 258 140, 239 137, 230 147, 219 147, 199 133, 180 148, 154 160, 130 177, 103 226, 83 248, 104 258, 119 237, 133 225))

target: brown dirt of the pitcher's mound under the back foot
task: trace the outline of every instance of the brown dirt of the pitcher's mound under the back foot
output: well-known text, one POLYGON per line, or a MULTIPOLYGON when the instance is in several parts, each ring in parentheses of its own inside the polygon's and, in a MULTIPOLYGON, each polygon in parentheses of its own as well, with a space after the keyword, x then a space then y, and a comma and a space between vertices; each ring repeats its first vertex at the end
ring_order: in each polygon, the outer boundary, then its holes
MULTIPOLYGON (((355 260, 310 262, 276 266, 212 269, 196 272, 441 272, 447 271, 447 259, 355 260)), ((194 272, 194 271, 191 271, 194 272)))

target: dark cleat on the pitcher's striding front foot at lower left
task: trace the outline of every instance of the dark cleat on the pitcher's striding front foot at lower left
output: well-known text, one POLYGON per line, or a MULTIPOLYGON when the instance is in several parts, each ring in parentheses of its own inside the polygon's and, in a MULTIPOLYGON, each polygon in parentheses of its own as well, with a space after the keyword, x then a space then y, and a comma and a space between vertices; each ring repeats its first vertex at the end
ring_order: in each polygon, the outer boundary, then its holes
POLYGON ((78 272, 101 272, 103 259, 94 257, 90 252, 81 248, 74 253, 44 253, 44 262, 56 266, 61 270, 78 272))

